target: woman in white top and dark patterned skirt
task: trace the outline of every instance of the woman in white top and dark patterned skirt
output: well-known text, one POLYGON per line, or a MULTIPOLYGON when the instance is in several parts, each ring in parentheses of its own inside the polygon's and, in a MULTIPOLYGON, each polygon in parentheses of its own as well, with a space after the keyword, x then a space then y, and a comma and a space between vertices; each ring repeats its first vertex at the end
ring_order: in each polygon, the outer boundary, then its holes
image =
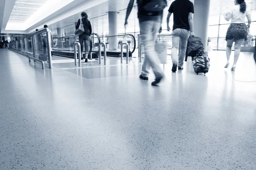
POLYGON ((236 62, 239 58, 240 48, 244 40, 247 40, 248 28, 252 23, 250 9, 244 2, 244 0, 235 0, 235 6, 231 7, 227 12, 224 13, 225 20, 229 21, 231 19, 231 24, 227 29, 226 41, 226 55, 227 55, 227 64, 225 68, 228 68, 230 65, 229 59, 232 51, 233 42, 235 42, 235 54, 234 54, 234 63, 231 68, 231 71, 236 70, 236 62), (245 17, 247 17, 248 25, 245 24, 245 17))

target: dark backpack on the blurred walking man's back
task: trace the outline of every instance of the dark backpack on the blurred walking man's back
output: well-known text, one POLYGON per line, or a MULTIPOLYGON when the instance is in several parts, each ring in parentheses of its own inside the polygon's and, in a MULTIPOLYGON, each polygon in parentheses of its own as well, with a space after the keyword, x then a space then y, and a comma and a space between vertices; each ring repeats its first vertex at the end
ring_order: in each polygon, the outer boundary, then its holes
POLYGON ((137 0, 137 4, 143 11, 157 12, 162 11, 167 6, 166 0, 137 0))

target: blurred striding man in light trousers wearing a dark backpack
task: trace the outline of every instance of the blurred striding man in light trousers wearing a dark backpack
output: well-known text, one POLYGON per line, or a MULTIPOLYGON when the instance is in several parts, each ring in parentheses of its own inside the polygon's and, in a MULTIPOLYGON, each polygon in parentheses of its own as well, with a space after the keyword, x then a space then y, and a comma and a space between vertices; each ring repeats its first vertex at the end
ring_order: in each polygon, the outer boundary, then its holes
MULTIPOLYGON (((147 5, 152 6, 150 2, 148 3, 148 0, 137 0, 140 35, 142 36, 143 47, 145 50, 145 58, 140 79, 148 80, 148 74, 150 68, 152 68, 156 79, 151 85, 157 85, 164 77, 163 71, 160 68, 160 59, 157 57, 157 52, 154 48, 157 40, 157 33, 160 30, 163 20, 163 9, 167 6, 166 0, 159 0, 159 2, 159 8, 156 10, 154 8, 147 8, 147 5)), ((134 0, 130 0, 125 17, 125 27, 128 24, 127 20, 131 14, 133 5, 134 0)))

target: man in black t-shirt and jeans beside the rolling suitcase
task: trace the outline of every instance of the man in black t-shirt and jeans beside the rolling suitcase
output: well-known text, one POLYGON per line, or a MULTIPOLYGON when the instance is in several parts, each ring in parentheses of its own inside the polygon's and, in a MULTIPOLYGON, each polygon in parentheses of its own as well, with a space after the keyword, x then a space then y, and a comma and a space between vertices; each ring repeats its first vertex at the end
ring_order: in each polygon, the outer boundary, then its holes
POLYGON ((173 13, 172 28, 172 72, 183 70, 189 34, 194 37, 193 16, 194 5, 189 0, 175 0, 169 8, 167 31, 170 31, 169 20, 173 13), (190 32, 189 32, 190 31, 190 32), (180 44, 180 52, 178 49, 180 44))

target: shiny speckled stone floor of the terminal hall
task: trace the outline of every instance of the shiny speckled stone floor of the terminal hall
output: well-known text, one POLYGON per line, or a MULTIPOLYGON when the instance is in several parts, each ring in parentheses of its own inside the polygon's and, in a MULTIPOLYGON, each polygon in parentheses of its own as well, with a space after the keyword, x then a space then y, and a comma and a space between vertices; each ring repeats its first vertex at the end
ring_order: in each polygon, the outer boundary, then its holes
POLYGON ((256 169, 253 55, 235 72, 224 51, 209 57, 206 76, 168 60, 152 87, 136 58, 42 70, 0 49, 0 170, 256 169))

